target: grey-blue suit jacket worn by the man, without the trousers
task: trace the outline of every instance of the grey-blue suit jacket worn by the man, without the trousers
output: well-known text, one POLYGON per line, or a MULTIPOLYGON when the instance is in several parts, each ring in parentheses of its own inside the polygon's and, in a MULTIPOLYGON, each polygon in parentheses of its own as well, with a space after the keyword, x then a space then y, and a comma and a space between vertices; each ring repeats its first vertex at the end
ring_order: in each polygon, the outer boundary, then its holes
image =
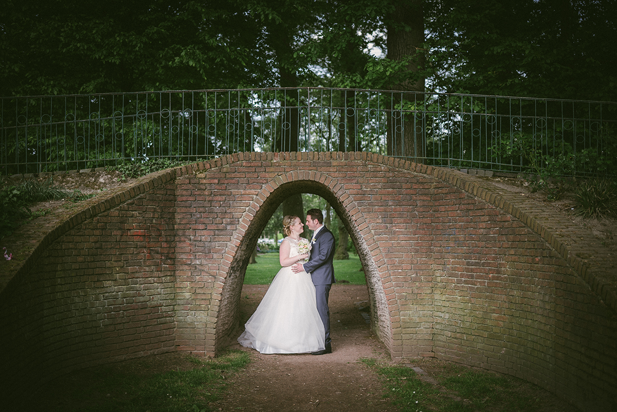
POLYGON ((310 250, 309 262, 304 263, 304 270, 310 273, 315 285, 329 285, 334 280, 334 235, 325 226, 315 236, 310 250))

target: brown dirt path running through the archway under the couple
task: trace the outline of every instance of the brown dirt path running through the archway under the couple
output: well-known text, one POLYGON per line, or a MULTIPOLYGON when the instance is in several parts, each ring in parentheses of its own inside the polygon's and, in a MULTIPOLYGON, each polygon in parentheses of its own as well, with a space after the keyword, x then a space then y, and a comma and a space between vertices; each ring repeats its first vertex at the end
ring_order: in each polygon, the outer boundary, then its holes
MULTIPOLYGON (((255 310, 267 285, 242 288, 242 321, 255 310)), ((333 353, 328 355, 252 354, 252 363, 231 380, 214 406, 221 411, 392 411, 382 397, 378 377, 359 362, 387 360, 386 350, 371 334, 362 313, 368 301, 366 286, 334 284, 330 293, 333 353)))

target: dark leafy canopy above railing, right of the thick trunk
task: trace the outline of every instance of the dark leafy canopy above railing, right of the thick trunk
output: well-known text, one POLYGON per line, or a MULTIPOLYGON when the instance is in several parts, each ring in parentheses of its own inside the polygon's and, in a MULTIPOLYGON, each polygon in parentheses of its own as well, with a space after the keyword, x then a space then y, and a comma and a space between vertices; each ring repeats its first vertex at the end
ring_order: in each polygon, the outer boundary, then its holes
POLYGON ((614 1, 444 0, 428 10, 433 88, 617 99, 614 1))

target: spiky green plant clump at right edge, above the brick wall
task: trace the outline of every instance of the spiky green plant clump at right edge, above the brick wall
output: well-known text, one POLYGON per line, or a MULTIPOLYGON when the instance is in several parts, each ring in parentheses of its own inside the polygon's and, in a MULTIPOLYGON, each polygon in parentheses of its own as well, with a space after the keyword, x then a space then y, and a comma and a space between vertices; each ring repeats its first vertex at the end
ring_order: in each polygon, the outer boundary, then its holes
POLYGON ((593 179, 576 186, 574 214, 588 219, 617 218, 617 183, 593 179))

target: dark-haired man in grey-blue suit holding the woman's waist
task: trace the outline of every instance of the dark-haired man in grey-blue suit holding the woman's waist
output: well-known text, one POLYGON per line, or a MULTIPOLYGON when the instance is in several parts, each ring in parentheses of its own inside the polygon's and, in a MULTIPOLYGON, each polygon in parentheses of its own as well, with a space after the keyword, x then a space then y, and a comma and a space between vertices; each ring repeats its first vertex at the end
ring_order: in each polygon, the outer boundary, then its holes
POLYGON ((331 231, 323 226, 323 214, 319 209, 311 209, 307 212, 307 226, 313 231, 313 245, 310 251, 309 262, 301 265, 296 263, 291 270, 294 273, 305 271, 310 273, 315 294, 317 296, 317 311, 326 329, 326 348, 312 355, 324 355, 332 353, 332 342, 330 339, 330 310, 328 308, 328 297, 330 287, 334 282, 334 236, 331 231))

